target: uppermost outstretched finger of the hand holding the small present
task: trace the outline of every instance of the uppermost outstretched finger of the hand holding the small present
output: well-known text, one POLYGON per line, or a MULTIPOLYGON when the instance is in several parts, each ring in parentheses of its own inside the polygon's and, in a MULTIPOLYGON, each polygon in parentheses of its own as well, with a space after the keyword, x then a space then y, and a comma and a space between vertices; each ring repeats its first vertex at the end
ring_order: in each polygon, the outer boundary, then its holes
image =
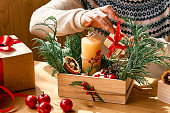
POLYGON ((108 13, 115 20, 119 19, 116 11, 110 5, 107 5, 105 7, 100 7, 100 10, 106 14, 108 13))

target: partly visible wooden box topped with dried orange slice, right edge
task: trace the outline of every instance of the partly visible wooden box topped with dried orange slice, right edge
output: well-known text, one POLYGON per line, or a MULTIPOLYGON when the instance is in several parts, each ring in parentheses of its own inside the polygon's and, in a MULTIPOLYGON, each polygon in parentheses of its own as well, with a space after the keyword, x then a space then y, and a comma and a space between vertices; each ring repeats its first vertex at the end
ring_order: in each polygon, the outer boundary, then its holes
POLYGON ((170 70, 164 71, 161 80, 158 81, 157 97, 159 100, 170 104, 170 70))

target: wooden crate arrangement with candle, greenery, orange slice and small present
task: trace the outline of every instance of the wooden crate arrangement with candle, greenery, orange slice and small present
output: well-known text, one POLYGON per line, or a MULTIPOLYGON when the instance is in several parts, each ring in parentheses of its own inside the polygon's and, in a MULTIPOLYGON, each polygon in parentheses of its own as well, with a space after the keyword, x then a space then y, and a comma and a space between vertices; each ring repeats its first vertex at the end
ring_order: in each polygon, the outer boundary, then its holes
POLYGON ((170 58, 161 55, 164 43, 150 37, 146 32, 147 26, 138 25, 130 18, 123 19, 133 37, 121 33, 120 19, 115 34, 110 34, 104 42, 110 50, 107 55, 101 54, 101 39, 91 29, 86 36, 82 33, 67 36, 62 48, 57 41, 57 20, 54 17, 35 25, 44 25, 53 32, 39 28, 37 30, 46 34, 46 41, 34 40, 40 43, 35 48, 54 69, 52 75, 58 79, 59 96, 125 104, 134 80, 152 87, 144 77, 149 75, 144 70, 147 64, 170 67, 167 62, 170 58))

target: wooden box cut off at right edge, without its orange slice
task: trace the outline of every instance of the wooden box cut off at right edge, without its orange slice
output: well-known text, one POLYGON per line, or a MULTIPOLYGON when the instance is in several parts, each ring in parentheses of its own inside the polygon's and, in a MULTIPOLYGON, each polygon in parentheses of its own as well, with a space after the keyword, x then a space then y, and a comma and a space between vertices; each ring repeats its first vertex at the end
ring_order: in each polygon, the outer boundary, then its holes
POLYGON ((161 80, 158 81, 157 97, 159 100, 170 104, 170 85, 163 83, 161 80))

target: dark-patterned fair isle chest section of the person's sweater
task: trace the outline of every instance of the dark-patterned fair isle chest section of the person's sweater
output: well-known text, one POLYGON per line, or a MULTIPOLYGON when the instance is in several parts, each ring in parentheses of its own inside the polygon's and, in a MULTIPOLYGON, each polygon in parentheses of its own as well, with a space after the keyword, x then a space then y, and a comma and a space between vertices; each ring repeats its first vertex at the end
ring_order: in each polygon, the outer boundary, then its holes
MULTIPOLYGON (((111 5, 119 17, 128 16, 143 26, 149 25, 149 35, 155 38, 168 37, 170 33, 170 1, 169 0, 93 0, 95 5, 102 7, 111 5)), ((84 9, 94 9, 91 0, 81 1, 84 9)), ((112 20, 116 25, 116 21, 112 20)), ((132 33, 125 23, 121 24, 122 32, 130 36, 132 33)), ((101 34, 109 33, 103 29, 96 28, 101 34)))

